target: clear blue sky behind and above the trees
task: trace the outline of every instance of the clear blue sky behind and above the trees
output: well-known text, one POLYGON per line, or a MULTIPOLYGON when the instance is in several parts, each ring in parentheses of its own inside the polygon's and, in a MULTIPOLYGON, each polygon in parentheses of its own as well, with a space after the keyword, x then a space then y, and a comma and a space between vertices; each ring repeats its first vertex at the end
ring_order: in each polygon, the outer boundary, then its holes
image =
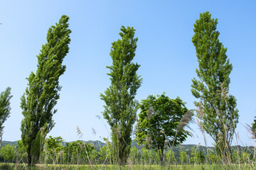
MULTIPOLYGON (((254 145, 244 125, 256 115, 256 13, 255 1, 1 1, 0 2, 0 91, 11 86, 11 117, 4 124, 4 140, 21 139, 20 98, 26 89, 26 77, 36 71, 36 55, 46 42, 47 30, 61 15, 70 16, 70 52, 60 78, 60 100, 53 116, 55 127, 48 134, 66 141, 109 137, 109 125, 102 117, 104 102, 100 93, 110 85, 107 65, 112 64, 111 43, 119 38, 121 26, 132 26, 139 38, 134 62, 141 64, 143 84, 137 100, 150 94, 170 98, 179 96, 193 109, 191 79, 196 77, 195 47, 191 42, 193 23, 199 13, 210 11, 218 18, 220 41, 228 47, 233 64, 230 94, 237 98, 240 122, 239 145, 254 145), (92 128, 97 132, 93 135, 92 128)), ((191 125, 194 137, 185 144, 203 143, 197 125, 191 125)), ((207 137, 208 145, 213 140, 207 137)))

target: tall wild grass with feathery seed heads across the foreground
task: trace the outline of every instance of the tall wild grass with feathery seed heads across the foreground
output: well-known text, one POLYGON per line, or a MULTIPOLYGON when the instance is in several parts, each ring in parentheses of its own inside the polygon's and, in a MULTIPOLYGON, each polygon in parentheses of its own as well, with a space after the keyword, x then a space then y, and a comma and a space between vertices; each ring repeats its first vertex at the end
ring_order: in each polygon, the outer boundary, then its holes
MULTIPOLYGON (((200 108, 198 109, 200 112, 200 108)), ((193 120, 191 111, 184 115, 181 119, 181 125, 184 128, 193 120)), ((111 142, 105 139, 104 147, 94 146, 94 149, 88 150, 85 142, 78 142, 77 148, 72 152, 64 146, 60 149, 52 148, 49 151, 46 145, 41 145, 43 152, 38 164, 28 167, 26 164, 26 153, 21 154, 16 150, 16 157, 9 162, 1 163, 0 169, 256 169, 255 147, 239 146, 240 138, 238 133, 235 134, 236 146, 232 147, 232 162, 223 162, 221 155, 217 154, 214 147, 208 147, 205 131, 200 123, 196 120, 205 146, 196 145, 192 149, 186 149, 184 145, 178 147, 167 147, 164 152, 164 165, 161 165, 159 154, 153 149, 142 148, 140 145, 134 146, 131 149, 127 164, 119 166, 114 164, 117 157, 114 157, 113 147, 111 142), (12 162, 12 163, 10 163, 12 162)), ((77 128, 78 136, 82 140, 82 132, 77 128)), ((251 130, 247 125, 247 130, 251 130)), ((177 130, 178 132, 178 130, 177 130)), ((254 133, 250 132, 252 135, 254 133)), ((255 137, 255 136, 254 136, 255 137)), ((100 144, 99 144, 100 146, 100 144)), ((0 149, 1 156, 1 149, 0 149)))

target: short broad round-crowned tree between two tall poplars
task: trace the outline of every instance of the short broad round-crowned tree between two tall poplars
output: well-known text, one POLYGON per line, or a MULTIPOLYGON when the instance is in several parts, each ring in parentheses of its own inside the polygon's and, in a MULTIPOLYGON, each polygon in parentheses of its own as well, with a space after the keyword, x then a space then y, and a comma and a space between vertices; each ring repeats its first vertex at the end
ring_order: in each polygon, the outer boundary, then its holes
POLYGON ((155 149, 163 164, 165 147, 178 145, 190 135, 183 128, 178 130, 188 109, 180 98, 171 99, 164 94, 148 96, 142 100, 140 109, 136 140, 149 149, 155 149))

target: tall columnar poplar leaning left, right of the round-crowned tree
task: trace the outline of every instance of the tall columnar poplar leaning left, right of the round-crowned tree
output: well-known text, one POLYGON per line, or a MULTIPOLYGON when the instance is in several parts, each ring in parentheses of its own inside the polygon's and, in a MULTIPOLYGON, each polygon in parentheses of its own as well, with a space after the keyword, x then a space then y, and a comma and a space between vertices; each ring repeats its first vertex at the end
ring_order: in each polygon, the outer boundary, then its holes
POLYGON ((213 137, 225 163, 231 163, 230 145, 238 123, 238 110, 235 97, 228 94, 233 67, 225 54, 227 48, 218 39, 217 23, 206 12, 194 24, 192 42, 198 58, 198 79, 192 79, 191 92, 200 99, 195 104, 200 108, 198 118, 203 128, 213 137))

